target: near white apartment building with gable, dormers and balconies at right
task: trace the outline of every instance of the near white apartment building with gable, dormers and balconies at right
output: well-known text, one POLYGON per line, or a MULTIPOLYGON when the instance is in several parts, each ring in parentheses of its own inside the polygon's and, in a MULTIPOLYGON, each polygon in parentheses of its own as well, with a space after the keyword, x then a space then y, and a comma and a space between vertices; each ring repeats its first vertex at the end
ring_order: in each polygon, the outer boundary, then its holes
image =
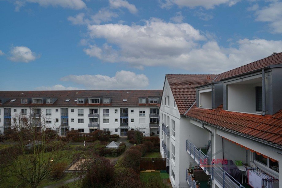
POLYGON ((160 138, 172 186, 196 187, 187 169, 198 166, 212 187, 282 187, 281 93, 282 53, 219 75, 166 75, 160 138))

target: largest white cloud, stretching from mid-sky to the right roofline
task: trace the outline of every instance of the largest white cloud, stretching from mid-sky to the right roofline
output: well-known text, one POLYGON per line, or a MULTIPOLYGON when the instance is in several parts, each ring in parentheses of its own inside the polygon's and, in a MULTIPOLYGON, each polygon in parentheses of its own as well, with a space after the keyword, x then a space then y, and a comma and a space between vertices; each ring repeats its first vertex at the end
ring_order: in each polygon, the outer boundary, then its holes
POLYGON ((105 39, 102 46, 89 45, 87 55, 106 62, 143 66, 169 66, 190 73, 221 73, 282 51, 282 41, 242 39, 234 47, 220 47, 214 36, 187 23, 151 19, 145 25, 89 25, 91 39, 105 39), (205 33, 205 34, 204 34, 205 33))

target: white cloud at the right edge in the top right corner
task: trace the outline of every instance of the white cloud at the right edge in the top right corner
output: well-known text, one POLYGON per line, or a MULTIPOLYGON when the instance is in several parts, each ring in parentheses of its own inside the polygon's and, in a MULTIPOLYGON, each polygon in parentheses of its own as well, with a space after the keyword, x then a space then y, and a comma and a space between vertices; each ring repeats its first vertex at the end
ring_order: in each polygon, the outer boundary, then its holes
POLYGON ((270 32, 282 33, 282 2, 272 2, 255 12, 256 21, 268 22, 270 32))

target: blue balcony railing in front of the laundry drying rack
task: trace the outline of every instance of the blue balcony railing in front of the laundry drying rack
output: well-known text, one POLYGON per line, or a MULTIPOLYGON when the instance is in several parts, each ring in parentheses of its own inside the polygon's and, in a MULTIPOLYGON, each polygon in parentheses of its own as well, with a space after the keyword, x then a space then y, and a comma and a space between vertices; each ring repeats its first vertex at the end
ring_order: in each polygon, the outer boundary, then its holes
POLYGON ((211 179, 215 179, 223 188, 244 188, 218 164, 212 164, 211 179))

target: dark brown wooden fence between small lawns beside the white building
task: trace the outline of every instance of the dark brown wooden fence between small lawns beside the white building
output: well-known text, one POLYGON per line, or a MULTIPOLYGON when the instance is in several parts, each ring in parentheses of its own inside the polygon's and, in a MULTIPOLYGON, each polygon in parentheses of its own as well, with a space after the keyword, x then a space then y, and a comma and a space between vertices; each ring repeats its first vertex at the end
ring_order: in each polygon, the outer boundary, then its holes
POLYGON ((166 170, 166 158, 141 158, 140 170, 166 170))

